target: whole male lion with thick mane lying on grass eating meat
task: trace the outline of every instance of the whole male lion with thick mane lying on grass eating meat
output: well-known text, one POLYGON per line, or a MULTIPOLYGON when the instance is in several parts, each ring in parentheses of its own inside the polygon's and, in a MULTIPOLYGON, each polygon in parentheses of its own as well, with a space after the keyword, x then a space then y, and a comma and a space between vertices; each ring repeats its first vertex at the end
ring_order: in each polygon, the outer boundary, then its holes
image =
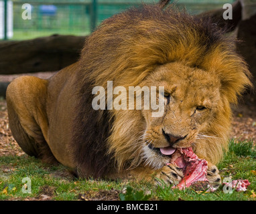
POLYGON ((49 80, 11 82, 9 123, 27 154, 58 161, 80 177, 178 182, 184 175, 166 165, 170 150, 192 146, 208 161, 208 180, 220 183, 214 165, 227 150, 231 104, 251 86, 249 76, 234 39, 215 23, 143 5, 104 21, 86 39, 80 60, 49 80), (94 110, 92 88, 107 93, 107 81, 127 90, 164 86, 163 116, 144 108, 94 110))

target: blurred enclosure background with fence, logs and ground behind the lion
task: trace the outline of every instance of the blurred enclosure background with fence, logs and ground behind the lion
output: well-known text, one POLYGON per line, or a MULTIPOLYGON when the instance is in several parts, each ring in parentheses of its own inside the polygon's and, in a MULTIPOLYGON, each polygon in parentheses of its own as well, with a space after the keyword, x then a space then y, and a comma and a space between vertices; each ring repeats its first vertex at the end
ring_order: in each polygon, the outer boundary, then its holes
MULTIPOLYGON (((256 0, 174 1, 192 15, 211 17, 220 27, 228 27, 227 34, 241 41, 237 43, 237 52, 247 62, 256 89, 256 0), (232 4, 231 19, 223 18, 227 11, 223 6, 227 3, 232 4)), ((23 75, 50 78, 58 70, 77 62, 86 37, 101 21, 129 7, 158 2, 0 0, 0 122, 8 124, 5 94, 9 82, 23 75)), ((232 136, 256 142, 255 90, 244 94, 234 115, 232 136)))

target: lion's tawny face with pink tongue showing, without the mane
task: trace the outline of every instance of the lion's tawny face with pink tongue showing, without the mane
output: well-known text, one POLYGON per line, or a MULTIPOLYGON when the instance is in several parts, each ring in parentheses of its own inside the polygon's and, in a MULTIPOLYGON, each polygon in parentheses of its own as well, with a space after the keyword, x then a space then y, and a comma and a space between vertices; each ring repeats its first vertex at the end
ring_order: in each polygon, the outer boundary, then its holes
POLYGON ((223 106, 219 78, 200 68, 172 62, 155 69, 145 84, 164 86, 165 90, 163 116, 152 117, 151 110, 141 112, 146 124, 143 152, 147 163, 162 167, 175 148, 200 146, 208 138, 223 137, 212 130, 218 125, 216 116, 220 116, 223 106))

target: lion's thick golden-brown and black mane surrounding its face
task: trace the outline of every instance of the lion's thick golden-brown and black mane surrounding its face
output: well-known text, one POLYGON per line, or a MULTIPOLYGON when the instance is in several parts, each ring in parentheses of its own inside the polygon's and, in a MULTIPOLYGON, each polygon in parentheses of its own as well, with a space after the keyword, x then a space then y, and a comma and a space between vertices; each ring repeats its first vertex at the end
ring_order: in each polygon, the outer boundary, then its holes
MULTIPOLYGON (((157 66, 182 62, 220 78, 223 106, 209 129, 218 138, 195 149, 218 163, 228 147, 231 104, 250 85, 249 71, 235 51, 235 39, 216 23, 174 7, 144 5, 114 15, 86 39, 80 56, 80 102, 74 114, 73 158, 78 174, 101 177, 116 167, 135 167, 143 162, 139 136, 145 120, 139 110, 93 110, 92 88, 107 81, 115 86, 137 86, 157 66)), ((186 80, 184 80, 186 81, 186 80)), ((106 102, 107 103, 107 102, 106 102)))

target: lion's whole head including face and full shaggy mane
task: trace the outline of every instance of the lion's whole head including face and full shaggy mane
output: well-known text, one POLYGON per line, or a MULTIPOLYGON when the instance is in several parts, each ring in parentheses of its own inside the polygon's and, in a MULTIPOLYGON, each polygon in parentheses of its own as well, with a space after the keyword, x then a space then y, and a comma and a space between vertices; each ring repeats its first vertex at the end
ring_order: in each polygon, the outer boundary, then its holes
POLYGON ((159 5, 104 21, 86 39, 80 66, 74 142, 77 150, 97 151, 77 157, 90 163, 94 175, 103 175, 113 160, 119 169, 163 167, 177 147, 193 146, 198 156, 217 163, 227 149, 231 104, 251 85, 235 39, 209 19, 159 5), (92 87, 107 91, 109 80, 127 89, 164 86, 163 116, 143 109, 92 110, 92 87))

